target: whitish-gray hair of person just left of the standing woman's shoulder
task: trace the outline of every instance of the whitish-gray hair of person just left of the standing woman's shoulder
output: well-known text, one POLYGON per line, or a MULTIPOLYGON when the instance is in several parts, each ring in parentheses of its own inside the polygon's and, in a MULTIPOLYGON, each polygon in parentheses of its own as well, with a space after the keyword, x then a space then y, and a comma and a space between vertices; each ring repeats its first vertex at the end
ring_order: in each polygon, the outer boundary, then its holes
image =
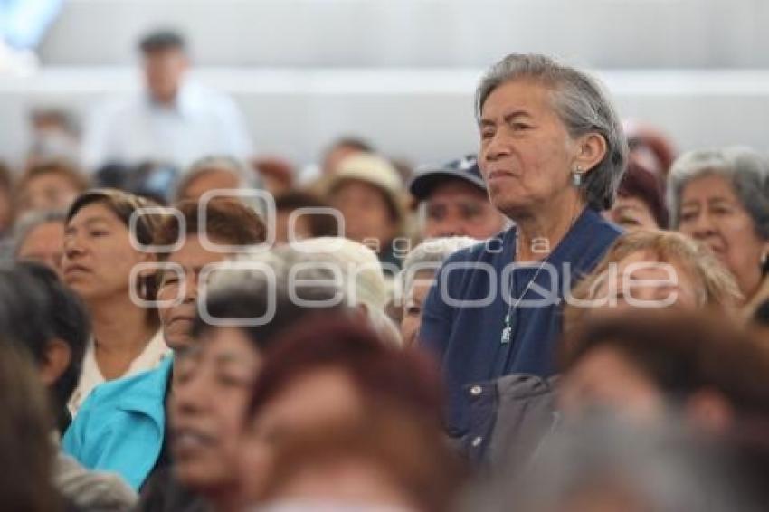
POLYGON ((413 288, 416 275, 423 270, 437 271, 443 261, 460 249, 479 243, 469 236, 431 238, 420 243, 403 260, 403 270, 398 273, 395 303, 400 304, 413 288))

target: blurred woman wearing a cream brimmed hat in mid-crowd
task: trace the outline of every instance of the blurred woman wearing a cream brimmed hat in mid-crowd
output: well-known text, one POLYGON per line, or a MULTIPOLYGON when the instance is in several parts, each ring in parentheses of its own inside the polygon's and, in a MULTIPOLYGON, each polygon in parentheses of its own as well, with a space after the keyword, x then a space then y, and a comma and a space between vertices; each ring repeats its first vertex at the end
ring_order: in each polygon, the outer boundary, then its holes
POLYGON ((345 236, 373 249, 389 276, 401 268, 395 239, 403 232, 402 188, 394 166, 370 153, 347 156, 328 184, 328 200, 342 213, 345 236))

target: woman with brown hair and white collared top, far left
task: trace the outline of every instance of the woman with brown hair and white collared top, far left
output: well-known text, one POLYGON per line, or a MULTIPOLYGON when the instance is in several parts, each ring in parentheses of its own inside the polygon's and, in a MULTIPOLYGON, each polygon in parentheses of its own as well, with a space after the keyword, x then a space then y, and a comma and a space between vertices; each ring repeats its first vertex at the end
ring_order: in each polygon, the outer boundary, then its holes
POLYGON ((155 299, 156 269, 134 275, 137 265, 156 261, 156 254, 139 251, 130 240, 150 245, 158 215, 138 215, 134 233, 128 232, 131 215, 152 206, 133 194, 95 189, 81 194, 67 213, 64 282, 85 302, 93 328, 81 378, 68 403, 73 416, 97 385, 152 369, 168 354, 157 310, 139 301, 155 299))

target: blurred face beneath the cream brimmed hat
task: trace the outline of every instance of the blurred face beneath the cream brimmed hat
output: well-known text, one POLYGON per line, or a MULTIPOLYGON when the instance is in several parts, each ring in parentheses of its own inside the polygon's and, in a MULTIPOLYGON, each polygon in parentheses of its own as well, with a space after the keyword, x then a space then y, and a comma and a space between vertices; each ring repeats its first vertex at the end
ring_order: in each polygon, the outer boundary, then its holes
MULTIPOLYGON (((345 218, 345 235, 350 240, 379 242, 379 251, 392 242, 395 226, 384 193, 374 185, 348 180, 331 196, 331 204, 345 218)), ((373 247, 372 247, 373 249, 373 247)))

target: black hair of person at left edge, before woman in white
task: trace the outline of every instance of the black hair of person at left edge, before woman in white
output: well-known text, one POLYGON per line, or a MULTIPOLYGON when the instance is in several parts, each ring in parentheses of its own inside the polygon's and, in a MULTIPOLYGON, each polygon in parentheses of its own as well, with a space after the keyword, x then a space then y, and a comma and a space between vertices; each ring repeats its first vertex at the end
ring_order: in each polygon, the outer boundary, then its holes
POLYGON ((24 346, 38 365, 53 339, 70 347, 70 365, 50 390, 52 405, 62 413, 80 379, 90 337, 90 318, 81 299, 39 263, 0 269, 0 334, 24 346))

